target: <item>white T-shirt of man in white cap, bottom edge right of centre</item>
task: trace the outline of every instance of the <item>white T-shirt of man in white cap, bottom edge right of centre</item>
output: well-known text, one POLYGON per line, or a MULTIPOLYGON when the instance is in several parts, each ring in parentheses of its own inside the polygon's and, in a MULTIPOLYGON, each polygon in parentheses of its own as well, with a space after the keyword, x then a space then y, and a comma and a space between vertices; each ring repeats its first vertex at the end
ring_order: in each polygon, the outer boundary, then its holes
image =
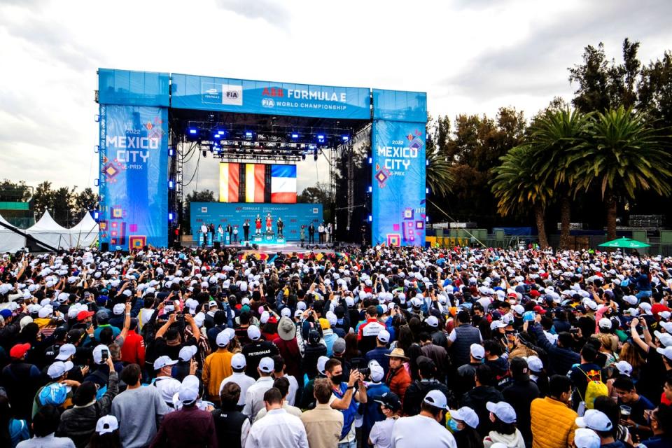
POLYGON ((392 429, 393 448, 415 448, 422 437, 423 448, 457 448, 455 438, 435 419, 423 415, 403 417, 392 429))

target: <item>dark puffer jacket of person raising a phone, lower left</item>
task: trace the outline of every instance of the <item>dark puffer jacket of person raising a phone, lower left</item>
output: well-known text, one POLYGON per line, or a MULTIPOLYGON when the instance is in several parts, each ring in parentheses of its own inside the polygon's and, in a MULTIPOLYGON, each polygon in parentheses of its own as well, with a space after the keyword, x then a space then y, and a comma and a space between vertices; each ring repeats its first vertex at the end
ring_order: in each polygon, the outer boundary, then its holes
POLYGON ((118 373, 110 372, 107 391, 104 395, 89 405, 76 406, 63 412, 56 435, 70 437, 77 448, 85 447, 96 430, 98 419, 110 413, 112 399, 118 392, 118 373))

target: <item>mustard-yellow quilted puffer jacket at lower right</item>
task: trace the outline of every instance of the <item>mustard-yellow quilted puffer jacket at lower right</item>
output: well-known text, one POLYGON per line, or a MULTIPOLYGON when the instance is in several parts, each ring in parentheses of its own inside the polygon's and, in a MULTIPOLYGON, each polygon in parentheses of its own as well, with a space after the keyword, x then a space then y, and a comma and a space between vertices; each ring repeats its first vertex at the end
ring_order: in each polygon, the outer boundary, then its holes
POLYGON ((574 442, 576 412, 553 398, 535 398, 532 416, 532 448, 567 448, 574 442))

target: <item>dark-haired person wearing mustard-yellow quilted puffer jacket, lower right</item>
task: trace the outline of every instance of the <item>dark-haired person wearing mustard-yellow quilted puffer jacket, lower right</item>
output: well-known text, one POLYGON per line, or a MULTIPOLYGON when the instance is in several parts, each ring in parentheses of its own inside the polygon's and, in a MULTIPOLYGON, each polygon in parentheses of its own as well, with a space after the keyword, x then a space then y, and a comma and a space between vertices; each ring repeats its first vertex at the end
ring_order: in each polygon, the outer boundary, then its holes
POLYGON ((548 395, 532 400, 530 421, 533 448, 571 446, 577 428, 577 414, 568 407, 571 397, 572 380, 564 375, 553 375, 549 379, 548 395))

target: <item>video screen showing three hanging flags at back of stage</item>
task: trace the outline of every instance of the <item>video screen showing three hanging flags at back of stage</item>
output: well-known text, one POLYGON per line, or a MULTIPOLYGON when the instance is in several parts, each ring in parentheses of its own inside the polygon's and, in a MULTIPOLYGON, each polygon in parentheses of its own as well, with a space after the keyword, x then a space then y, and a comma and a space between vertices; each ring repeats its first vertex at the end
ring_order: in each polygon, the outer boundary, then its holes
POLYGON ((221 163, 219 202, 296 202, 296 165, 221 163))

